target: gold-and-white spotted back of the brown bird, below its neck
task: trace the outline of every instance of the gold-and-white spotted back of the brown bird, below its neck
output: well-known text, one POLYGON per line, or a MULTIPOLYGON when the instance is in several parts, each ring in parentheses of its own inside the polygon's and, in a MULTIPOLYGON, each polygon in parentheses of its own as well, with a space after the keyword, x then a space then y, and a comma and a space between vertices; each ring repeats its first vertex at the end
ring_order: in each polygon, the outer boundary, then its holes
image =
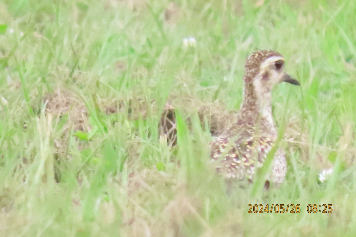
POLYGON ((255 168, 260 168, 272 149, 275 133, 263 133, 255 125, 233 124, 211 143, 211 158, 218 162, 217 171, 226 178, 252 180, 255 168))

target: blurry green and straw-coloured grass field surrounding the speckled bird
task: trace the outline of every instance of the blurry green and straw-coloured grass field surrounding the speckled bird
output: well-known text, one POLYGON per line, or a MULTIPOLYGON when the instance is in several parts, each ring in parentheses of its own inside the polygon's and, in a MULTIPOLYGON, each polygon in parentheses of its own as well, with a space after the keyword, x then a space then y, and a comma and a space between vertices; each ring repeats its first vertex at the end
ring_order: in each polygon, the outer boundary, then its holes
POLYGON ((1 1, 0 236, 355 236, 355 22, 354 0, 1 1), (229 196, 192 104, 238 110, 257 49, 302 85, 273 91, 288 174, 229 196), (192 107, 175 149, 167 99, 192 107))

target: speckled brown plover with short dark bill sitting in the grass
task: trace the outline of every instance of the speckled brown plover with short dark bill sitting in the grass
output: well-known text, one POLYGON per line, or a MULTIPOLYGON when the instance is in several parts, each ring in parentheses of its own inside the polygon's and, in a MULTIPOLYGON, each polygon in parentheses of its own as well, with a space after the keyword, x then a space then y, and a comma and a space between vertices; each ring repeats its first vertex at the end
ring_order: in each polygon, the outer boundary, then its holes
MULTIPOLYGON (((283 72, 284 58, 272 50, 248 56, 244 75, 244 101, 237 119, 211 144, 211 158, 226 178, 253 180, 277 140, 271 108, 271 90, 279 82, 299 85, 283 72)), ((287 162, 281 149, 274 154, 268 181, 281 183, 287 162)))

